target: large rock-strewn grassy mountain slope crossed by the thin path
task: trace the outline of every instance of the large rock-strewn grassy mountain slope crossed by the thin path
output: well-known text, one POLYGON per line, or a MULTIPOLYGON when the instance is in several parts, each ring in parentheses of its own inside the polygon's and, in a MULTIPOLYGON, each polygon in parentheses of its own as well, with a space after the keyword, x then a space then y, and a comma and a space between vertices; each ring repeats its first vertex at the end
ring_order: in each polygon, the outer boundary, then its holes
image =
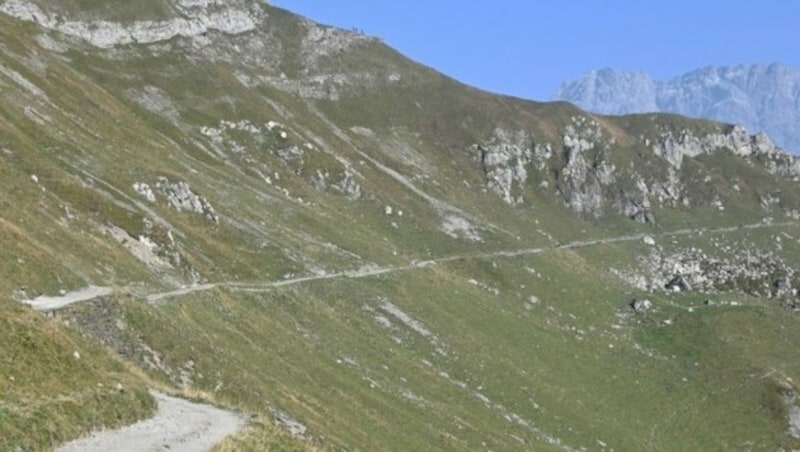
POLYGON ((113 287, 58 315, 256 416, 230 447, 797 444, 800 164, 765 136, 243 0, 0 11, 4 290, 113 287))

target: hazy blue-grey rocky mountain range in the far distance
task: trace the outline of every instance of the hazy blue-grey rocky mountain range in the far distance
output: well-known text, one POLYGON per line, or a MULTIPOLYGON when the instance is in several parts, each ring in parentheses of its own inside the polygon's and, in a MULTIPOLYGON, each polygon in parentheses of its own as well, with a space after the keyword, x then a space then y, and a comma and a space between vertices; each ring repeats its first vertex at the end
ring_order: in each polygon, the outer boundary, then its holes
POLYGON ((562 84, 553 98, 603 114, 658 111, 741 124, 800 152, 800 70, 780 63, 708 66, 666 82, 606 68, 562 84))

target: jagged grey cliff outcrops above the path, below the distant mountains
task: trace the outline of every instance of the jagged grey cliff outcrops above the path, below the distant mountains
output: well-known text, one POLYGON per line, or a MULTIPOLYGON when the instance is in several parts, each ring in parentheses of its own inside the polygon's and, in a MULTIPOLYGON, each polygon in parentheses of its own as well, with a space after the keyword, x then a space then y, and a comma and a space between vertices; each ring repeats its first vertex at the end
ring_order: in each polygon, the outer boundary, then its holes
MULTIPOLYGON (((627 152, 629 145, 620 148, 615 132, 588 115, 572 117, 563 128, 557 156, 552 145, 536 143, 530 133, 500 129, 484 143, 473 145, 472 152, 484 171, 486 189, 505 203, 523 205, 526 190, 534 185, 547 190, 555 182, 556 193, 566 205, 590 220, 603 217, 610 209, 650 224, 656 222, 654 212, 664 207, 706 205, 725 210, 730 198, 726 193, 739 193, 738 185, 725 187, 725 181, 706 177, 701 196, 698 186, 686 185, 696 183, 693 179, 682 179, 685 160, 701 155, 729 152, 740 162, 800 181, 800 158, 777 147, 765 134, 750 135, 741 126, 708 126, 705 131, 656 126, 655 133, 640 135, 634 144, 638 163, 629 160, 620 168, 612 162, 624 162, 625 158, 614 155, 627 152)), ((776 201, 764 198, 762 204, 769 210, 776 201)))

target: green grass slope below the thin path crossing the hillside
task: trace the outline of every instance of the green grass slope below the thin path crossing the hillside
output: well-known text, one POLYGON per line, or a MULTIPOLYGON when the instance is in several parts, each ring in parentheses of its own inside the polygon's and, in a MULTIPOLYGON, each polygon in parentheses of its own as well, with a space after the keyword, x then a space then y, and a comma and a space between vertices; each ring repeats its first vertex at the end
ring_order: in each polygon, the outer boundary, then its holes
MULTIPOLYGON (((516 437, 525 447, 547 445, 503 413, 529 419, 574 447, 591 447, 596 439, 656 450, 792 444, 783 435, 785 408, 775 381, 761 378, 781 361, 796 362, 792 342, 787 337, 776 347, 781 341, 762 341, 759 330, 777 319, 788 329, 796 318, 775 305, 690 315, 665 304, 656 317, 614 330, 615 314, 630 299, 624 292, 579 255, 557 252, 263 296, 217 292, 123 308, 128 324, 166 351, 168 366, 195 363, 197 388, 217 388, 218 400, 245 412, 263 410, 268 400, 324 438, 323 447, 472 449, 485 442, 517 449, 516 437), (607 282, 560 285, 566 275, 607 282), (468 283, 471 278, 491 283, 500 295, 468 283), (541 300, 533 310, 525 307, 531 294, 541 300), (435 342, 382 311, 384 299, 420 320, 435 342), (376 323, 377 314, 393 322, 391 330, 376 323), (722 320, 728 317, 735 322, 722 320), (662 326, 661 318, 673 319, 673 326, 662 326), (753 322, 758 326, 738 329, 753 322), (736 331, 748 347, 731 346, 718 325, 736 331), (776 347, 774 360, 762 358, 767 344, 776 347), (636 413, 635 421, 622 413, 636 413)), ((693 304, 695 298, 673 301, 693 304)), ((779 368, 797 375, 795 368, 779 368)))

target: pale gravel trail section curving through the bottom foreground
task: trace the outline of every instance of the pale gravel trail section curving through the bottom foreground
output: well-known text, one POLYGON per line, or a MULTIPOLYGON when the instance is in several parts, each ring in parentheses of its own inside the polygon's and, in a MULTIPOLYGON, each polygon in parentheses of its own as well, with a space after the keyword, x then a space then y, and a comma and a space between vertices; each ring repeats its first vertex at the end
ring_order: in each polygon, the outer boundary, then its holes
POLYGON ((158 411, 150 419, 67 443, 57 452, 196 452, 210 450, 245 426, 236 413, 152 392, 158 411))

